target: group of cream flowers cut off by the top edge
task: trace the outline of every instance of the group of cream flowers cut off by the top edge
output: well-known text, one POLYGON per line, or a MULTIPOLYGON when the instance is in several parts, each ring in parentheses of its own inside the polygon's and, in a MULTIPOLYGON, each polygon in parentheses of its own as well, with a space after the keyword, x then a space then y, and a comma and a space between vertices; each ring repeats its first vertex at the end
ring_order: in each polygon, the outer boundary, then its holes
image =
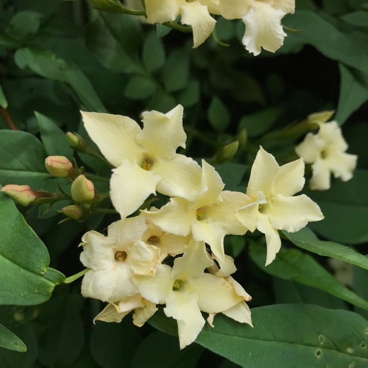
POLYGON ((281 19, 295 9, 295 0, 146 0, 145 4, 148 23, 170 22, 181 15, 182 24, 193 29, 193 47, 212 33, 216 21, 211 14, 241 19, 246 26, 242 42, 254 55, 261 47, 274 53, 283 45, 281 19))

